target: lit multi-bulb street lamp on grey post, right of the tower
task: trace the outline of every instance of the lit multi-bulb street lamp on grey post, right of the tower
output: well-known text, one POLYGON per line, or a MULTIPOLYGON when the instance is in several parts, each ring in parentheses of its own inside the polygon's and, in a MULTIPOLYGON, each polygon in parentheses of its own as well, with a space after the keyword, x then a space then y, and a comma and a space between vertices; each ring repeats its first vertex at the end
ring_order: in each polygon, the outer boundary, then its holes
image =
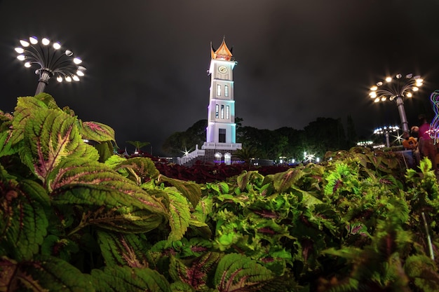
POLYGON ((421 76, 413 76, 413 74, 410 73, 403 78, 401 74, 397 74, 395 78, 386 77, 384 82, 379 81, 377 85, 373 85, 370 88, 369 95, 374 99, 374 102, 384 102, 388 98, 391 101, 395 100, 398 106, 403 131, 409 132, 403 97, 412 97, 413 92, 419 90, 419 86, 422 85, 422 82, 421 76))

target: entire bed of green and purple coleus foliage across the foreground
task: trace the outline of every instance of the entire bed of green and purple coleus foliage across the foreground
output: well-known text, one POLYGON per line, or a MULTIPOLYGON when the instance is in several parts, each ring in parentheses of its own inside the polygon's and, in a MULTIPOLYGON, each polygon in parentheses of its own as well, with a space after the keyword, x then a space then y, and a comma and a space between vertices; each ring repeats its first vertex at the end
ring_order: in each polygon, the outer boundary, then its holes
POLYGON ((0 291, 439 291, 428 160, 184 172, 115 145, 45 93, 0 112, 0 291))

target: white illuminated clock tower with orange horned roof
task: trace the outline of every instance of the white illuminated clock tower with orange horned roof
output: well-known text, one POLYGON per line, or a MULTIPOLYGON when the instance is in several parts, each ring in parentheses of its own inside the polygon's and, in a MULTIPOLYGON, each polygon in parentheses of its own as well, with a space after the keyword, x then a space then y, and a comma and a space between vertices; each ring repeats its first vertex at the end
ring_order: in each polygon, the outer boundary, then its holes
MULTIPOLYGON (((236 62, 232 58, 231 50, 227 48, 225 39, 217 50, 212 47, 212 43, 210 44, 210 55, 208 126, 202 149, 241 149, 241 144, 236 143, 233 74, 236 62)), ((222 152, 224 151, 220 151, 219 154, 222 152)))

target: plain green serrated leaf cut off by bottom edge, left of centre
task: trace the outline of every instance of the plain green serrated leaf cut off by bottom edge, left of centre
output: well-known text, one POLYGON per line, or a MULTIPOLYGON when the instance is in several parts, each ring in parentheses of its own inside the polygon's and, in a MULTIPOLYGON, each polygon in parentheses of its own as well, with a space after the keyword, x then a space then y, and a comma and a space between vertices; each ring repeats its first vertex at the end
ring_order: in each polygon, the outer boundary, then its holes
POLYGON ((96 291, 105 292, 170 292, 170 284, 163 275, 147 267, 104 267, 104 270, 92 270, 96 291))

